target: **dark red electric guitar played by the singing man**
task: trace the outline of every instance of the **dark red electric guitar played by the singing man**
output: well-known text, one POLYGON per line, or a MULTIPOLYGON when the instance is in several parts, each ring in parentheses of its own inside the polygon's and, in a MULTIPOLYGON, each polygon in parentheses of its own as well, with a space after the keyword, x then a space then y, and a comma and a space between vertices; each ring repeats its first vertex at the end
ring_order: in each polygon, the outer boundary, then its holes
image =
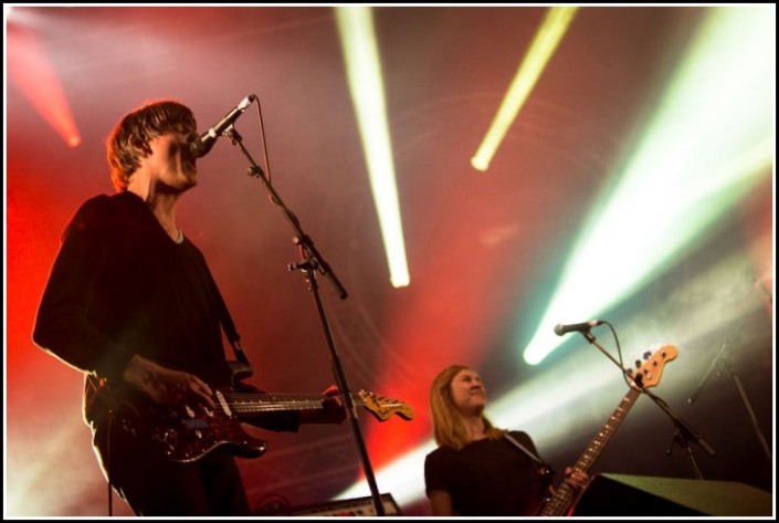
MULTIPOLYGON (((251 370, 230 362, 231 379, 246 376, 251 370)), ((209 380, 206 380, 209 383, 209 380)), ((233 383, 233 381, 231 381, 233 383)), ((315 410, 324 408, 323 395, 245 394, 234 387, 211 387, 215 408, 204 405, 167 406, 152 401, 141 393, 115 395, 118 408, 115 422, 136 437, 147 438, 152 447, 168 459, 190 463, 218 449, 243 458, 257 458, 267 449, 267 442, 246 433, 241 420, 263 412, 315 410)), ((393 415, 410 420, 414 410, 398 399, 360 390, 352 402, 365 407, 379 421, 393 415)))

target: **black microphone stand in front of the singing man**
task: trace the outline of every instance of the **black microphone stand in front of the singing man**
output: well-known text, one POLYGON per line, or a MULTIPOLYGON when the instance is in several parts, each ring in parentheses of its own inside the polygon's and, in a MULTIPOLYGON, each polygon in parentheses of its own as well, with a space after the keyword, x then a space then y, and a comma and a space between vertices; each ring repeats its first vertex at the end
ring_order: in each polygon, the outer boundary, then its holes
POLYGON ((348 387, 346 374, 344 373, 344 368, 340 364, 340 358, 333 341, 330 326, 327 322, 327 315, 325 314, 325 308, 322 304, 322 299, 319 297, 319 285, 316 280, 316 272, 319 271, 323 275, 325 275, 325 278, 327 278, 327 280, 335 287, 338 297, 340 297, 341 300, 345 300, 347 297, 346 289, 344 289, 344 286, 340 284, 338 278, 336 278, 327 261, 325 261, 325 259, 317 251, 316 247, 314 247, 314 242, 312 241, 312 239, 305 232, 303 232, 297 217, 290 210, 290 208, 284 205, 281 197, 271 185, 270 178, 265 176, 265 172, 263 172, 263 170, 254 163, 254 159, 243 146, 243 138, 238 133, 238 130, 235 130, 235 127, 231 125, 224 132, 224 134, 231 139, 233 144, 236 144, 241 148, 243 154, 246 156, 246 158, 249 158, 249 161, 251 164, 251 167, 249 168, 249 175, 260 178, 263 184, 265 184, 265 189, 267 189, 267 192, 271 196, 271 201, 281 207, 282 211, 284 212, 284 217, 287 219, 295 232, 293 242, 299 247, 302 260, 297 263, 290 263, 287 265, 287 270, 302 271, 305 274, 306 282, 308 283, 308 291, 314 296, 316 310, 319 313, 322 326, 325 332, 325 338, 327 339, 327 346, 330 352, 330 363, 333 365, 333 373, 335 375, 336 385, 338 386, 338 390, 340 391, 341 398, 344 400, 344 408, 349 420, 349 427, 351 428, 351 435, 357 446, 365 477, 368 481, 368 487, 370 489, 376 515, 383 516, 386 515, 385 506, 381 502, 381 496, 379 495, 379 489, 376 484, 376 478, 373 475, 373 471, 370 466, 370 460, 368 459, 368 452, 365 446, 365 441, 362 439, 362 435, 357 422, 357 409, 355 407, 354 398, 351 397, 351 390, 348 387))

